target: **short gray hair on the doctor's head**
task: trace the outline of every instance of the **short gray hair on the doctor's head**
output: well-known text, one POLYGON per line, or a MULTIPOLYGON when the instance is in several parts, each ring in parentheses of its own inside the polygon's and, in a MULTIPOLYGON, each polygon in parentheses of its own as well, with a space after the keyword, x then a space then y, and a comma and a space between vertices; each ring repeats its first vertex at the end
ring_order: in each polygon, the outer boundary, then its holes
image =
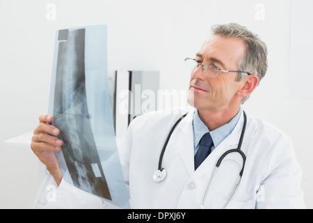
MULTIPOLYGON (((268 62, 266 44, 259 39, 257 34, 236 23, 215 25, 212 26, 211 31, 213 34, 225 38, 239 38, 243 40, 243 43, 246 45, 246 52, 239 62, 239 70, 248 72, 251 75, 257 75, 260 82, 266 74, 268 62)), ((238 73, 236 81, 240 82, 247 75, 246 73, 238 73)), ((250 95, 244 97, 241 104, 246 102, 249 97, 250 95)))

